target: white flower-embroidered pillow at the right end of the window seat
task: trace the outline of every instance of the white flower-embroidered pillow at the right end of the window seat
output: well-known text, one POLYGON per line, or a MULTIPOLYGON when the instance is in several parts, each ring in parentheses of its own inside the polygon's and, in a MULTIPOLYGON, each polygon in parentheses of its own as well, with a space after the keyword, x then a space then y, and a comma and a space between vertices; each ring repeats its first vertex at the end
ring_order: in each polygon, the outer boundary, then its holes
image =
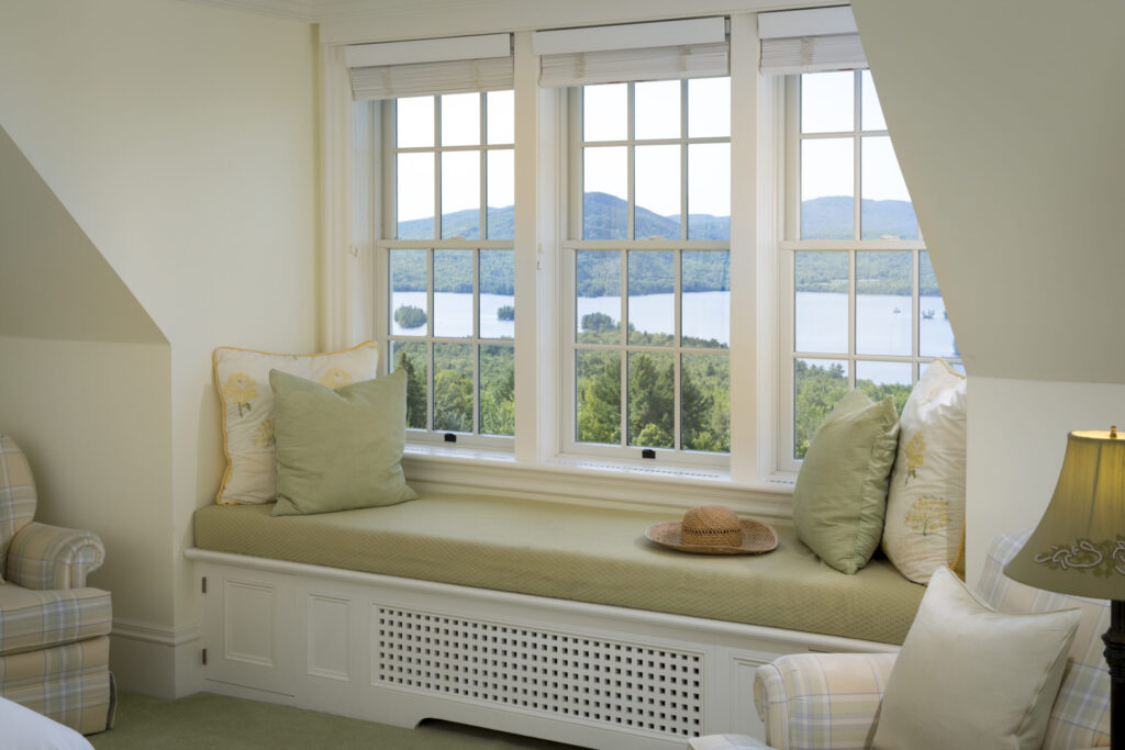
POLYGON ((934 360, 910 391, 899 421, 883 552, 918 584, 957 558, 965 525, 966 400, 965 377, 934 360))

